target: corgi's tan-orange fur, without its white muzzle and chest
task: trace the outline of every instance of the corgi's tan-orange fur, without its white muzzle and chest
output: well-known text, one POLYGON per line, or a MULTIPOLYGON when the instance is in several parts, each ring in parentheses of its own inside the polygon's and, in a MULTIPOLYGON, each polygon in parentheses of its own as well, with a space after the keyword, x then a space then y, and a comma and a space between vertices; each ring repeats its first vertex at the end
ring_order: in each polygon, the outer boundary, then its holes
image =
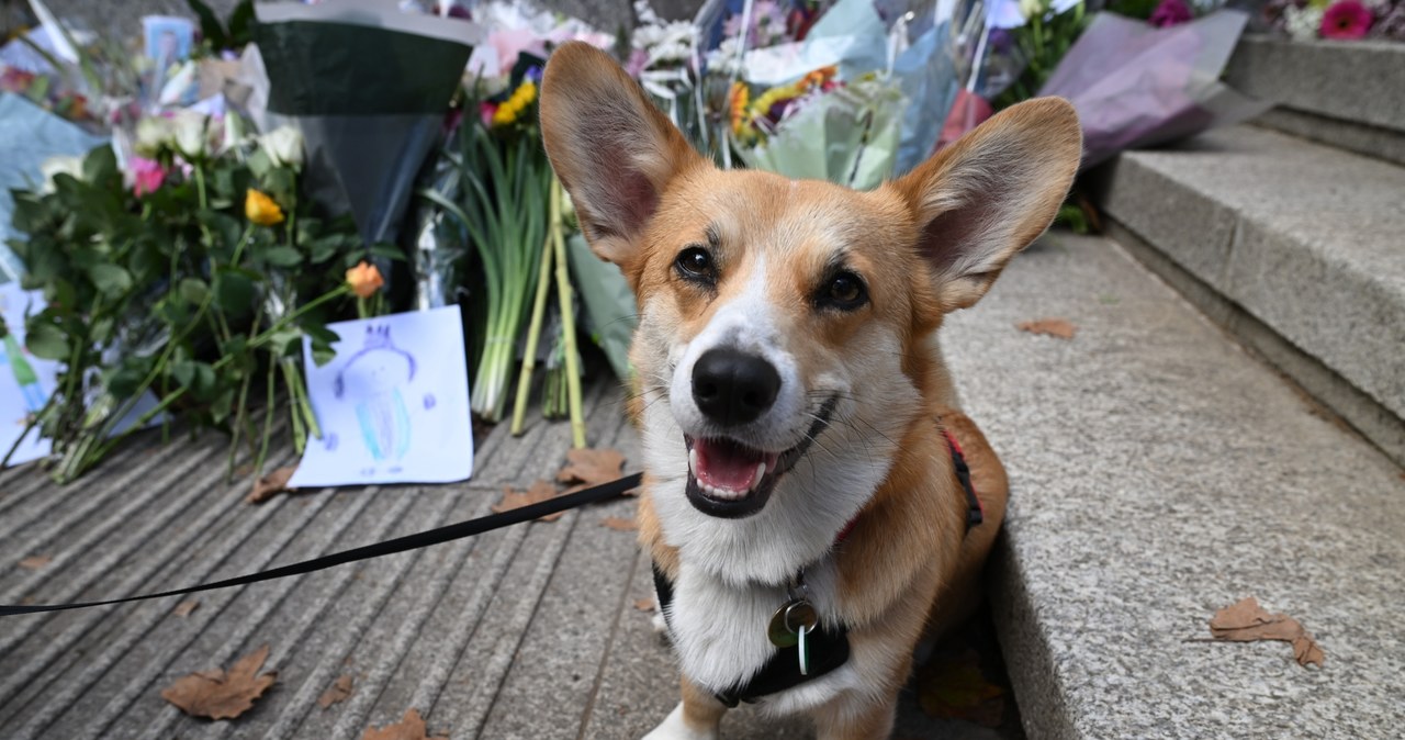
MULTIPOLYGON (((1078 167, 1072 108, 1052 98, 1017 105, 909 176, 854 192, 715 170, 606 55, 584 45, 555 52, 541 105, 548 154, 586 236, 597 254, 620 264, 649 316, 631 354, 636 421, 645 392, 667 383, 658 347, 691 340, 743 291, 764 291, 802 378, 861 376, 871 352, 865 343, 878 329, 901 344, 901 378, 891 382, 915 390, 905 403, 910 421, 898 434, 887 479, 832 555, 839 618, 856 654, 884 656, 882 685, 815 712, 823 739, 887 737, 913 646, 978 604, 981 570, 1006 508, 1005 469, 957 407, 933 336, 946 313, 975 303, 1009 258, 1048 226, 1078 167), (603 157, 600 147, 618 150, 603 157), (676 254, 714 239, 726 279, 715 291, 679 279, 676 254), (835 244, 871 293, 870 305, 851 313, 815 310, 806 298, 835 244), (749 278, 763 263, 766 279, 757 286, 749 278), (969 534, 943 428, 964 448, 985 506, 985 522, 969 534)), ((641 545, 676 579, 680 552, 665 542, 648 476, 638 520, 641 545)), ((688 727, 711 732, 722 712, 714 696, 683 678, 688 727)))

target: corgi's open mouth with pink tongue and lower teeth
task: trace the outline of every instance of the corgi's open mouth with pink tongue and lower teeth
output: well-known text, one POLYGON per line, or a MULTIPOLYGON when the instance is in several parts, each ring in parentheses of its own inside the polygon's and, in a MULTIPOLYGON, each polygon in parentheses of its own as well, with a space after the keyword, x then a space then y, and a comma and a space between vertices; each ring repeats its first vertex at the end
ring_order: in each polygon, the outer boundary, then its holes
POLYGON ((780 480, 799 462, 835 413, 829 399, 815 414, 805 438, 784 452, 753 449, 728 438, 683 437, 688 448, 688 501, 701 513, 736 520, 766 506, 780 480))

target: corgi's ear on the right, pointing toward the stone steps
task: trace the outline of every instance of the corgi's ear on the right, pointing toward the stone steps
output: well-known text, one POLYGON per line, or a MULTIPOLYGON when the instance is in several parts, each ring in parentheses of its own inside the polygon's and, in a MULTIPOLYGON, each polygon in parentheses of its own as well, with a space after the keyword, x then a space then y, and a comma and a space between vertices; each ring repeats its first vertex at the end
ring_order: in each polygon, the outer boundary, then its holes
POLYGON ((1058 213, 1083 136, 1062 98, 995 115, 892 183, 920 227, 943 312, 974 305, 1058 213))

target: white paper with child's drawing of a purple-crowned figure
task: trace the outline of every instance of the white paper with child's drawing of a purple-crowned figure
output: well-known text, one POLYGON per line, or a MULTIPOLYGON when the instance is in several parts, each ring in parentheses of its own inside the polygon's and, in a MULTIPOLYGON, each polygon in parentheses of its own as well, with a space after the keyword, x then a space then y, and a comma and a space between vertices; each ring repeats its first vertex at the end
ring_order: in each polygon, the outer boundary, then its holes
POLYGON ((468 366, 458 308, 329 324, 337 357, 303 347, 322 440, 308 440, 292 487, 448 483, 473 472, 468 366))

